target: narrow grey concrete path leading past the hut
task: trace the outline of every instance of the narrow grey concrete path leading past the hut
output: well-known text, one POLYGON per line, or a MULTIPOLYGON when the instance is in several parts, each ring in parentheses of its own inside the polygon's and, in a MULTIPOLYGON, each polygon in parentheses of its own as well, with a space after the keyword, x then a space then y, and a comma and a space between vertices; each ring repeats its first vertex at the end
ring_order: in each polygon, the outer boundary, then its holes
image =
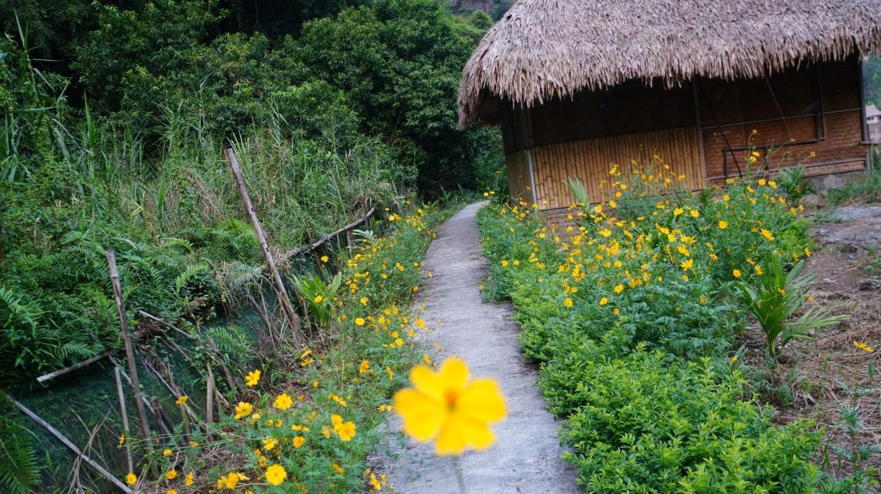
MULTIPOLYGON (((568 494, 579 492, 575 472, 560 458, 559 421, 545 410, 536 387, 536 367, 525 362, 517 339, 519 327, 511 320, 507 303, 483 303, 478 285, 486 273, 474 214, 482 203, 471 204, 445 222, 428 249, 424 269, 433 273, 424 287, 426 324, 434 329, 422 336, 437 343, 435 360, 458 355, 472 375, 499 381, 507 400, 508 416, 495 426, 497 442, 485 452, 469 452, 461 459, 469 494, 508 492, 568 494)), ((392 431, 400 431, 393 420, 392 431)), ((389 432, 381 471, 389 475, 396 492, 455 494, 453 461, 437 458, 433 445, 419 445, 389 432)))

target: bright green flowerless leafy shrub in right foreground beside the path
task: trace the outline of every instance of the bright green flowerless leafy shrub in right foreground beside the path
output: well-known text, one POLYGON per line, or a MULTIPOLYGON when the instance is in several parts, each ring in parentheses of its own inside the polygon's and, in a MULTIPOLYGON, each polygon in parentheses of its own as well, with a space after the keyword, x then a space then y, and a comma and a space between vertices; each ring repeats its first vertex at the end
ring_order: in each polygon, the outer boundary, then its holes
POLYGON ((737 373, 716 375, 707 359, 685 364, 637 349, 568 379, 583 404, 562 437, 586 491, 796 493, 818 482, 803 460, 818 435, 803 423, 774 425, 740 399, 737 373))

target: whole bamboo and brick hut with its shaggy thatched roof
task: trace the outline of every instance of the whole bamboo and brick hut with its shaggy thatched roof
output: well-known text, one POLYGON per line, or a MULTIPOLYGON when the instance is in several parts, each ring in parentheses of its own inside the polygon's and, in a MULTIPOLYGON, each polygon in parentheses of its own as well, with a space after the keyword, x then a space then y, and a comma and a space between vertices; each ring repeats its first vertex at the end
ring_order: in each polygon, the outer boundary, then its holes
POLYGON ((459 119, 501 126, 511 195, 542 209, 655 154, 692 190, 742 173, 748 146, 860 171, 879 48, 877 0, 519 0, 465 66, 459 119))

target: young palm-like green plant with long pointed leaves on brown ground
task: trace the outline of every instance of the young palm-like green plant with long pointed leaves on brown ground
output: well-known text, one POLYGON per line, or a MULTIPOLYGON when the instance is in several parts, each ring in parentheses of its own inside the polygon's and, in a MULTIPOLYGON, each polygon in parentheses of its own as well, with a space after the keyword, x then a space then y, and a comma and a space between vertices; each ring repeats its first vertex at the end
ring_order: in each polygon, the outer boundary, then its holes
POLYGON ((772 357, 778 357, 781 349, 794 338, 805 338, 807 331, 840 323, 850 317, 831 316, 831 310, 813 305, 795 321, 789 321, 797 310, 808 303, 807 286, 814 277, 811 274, 799 276, 804 261, 799 261, 789 272, 785 272, 780 256, 774 253, 766 256, 763 267, 765 270, 756 276, 754 285, 738 281, 737 287, 747 309, 765 331, 768 353, 772 357))

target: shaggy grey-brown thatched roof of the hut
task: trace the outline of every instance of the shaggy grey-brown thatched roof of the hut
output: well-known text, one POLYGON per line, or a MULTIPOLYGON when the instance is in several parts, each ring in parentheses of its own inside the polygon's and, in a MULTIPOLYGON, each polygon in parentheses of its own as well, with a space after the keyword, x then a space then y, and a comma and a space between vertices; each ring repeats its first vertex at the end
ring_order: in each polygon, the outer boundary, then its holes
POLYGON ((465 65, 463 126, 640 79, 762 76, 881 48, 881 0, 519 0, 465 65))

